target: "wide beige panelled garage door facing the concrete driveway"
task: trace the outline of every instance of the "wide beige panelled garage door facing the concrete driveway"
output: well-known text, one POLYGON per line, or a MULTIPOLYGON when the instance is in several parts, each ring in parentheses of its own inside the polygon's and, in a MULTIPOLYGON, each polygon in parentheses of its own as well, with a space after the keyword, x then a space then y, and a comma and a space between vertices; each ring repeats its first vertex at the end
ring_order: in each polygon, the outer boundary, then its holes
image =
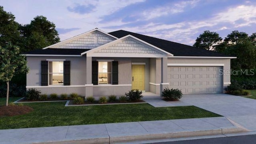
POLYGON ((222 93, 222 66, 168 66, 169 88, 183 94, 222 93))

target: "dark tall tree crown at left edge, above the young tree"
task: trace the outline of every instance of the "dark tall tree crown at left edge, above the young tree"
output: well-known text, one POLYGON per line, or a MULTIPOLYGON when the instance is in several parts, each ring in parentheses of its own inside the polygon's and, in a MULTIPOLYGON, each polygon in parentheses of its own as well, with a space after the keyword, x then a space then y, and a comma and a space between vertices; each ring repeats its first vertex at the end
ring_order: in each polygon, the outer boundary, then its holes
POLYGON ((20 38, 19 24, 14 20, 14 15, 4 11, 4 7, 0 6, 0 46, 5 46, 6 42, 18 44, 20 38))

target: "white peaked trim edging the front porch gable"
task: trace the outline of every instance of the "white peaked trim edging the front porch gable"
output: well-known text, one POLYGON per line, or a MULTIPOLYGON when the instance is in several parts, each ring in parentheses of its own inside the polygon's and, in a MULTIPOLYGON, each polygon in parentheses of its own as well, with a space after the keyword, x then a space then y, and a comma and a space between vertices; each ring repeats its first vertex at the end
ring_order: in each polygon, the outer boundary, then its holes
MULTIPOLYGON (((138 40, 138 41, 140 41, 140 42, 142 42, 142 43, 144 43, 144 44, 146 44, 146 45, 148 45, 148 46, 151 46, 151 47, 155 48, 156 50, 163 52, 164 54, 167 54, 167 55, 169 55, 169 56, 173 56, 173 54, 171 54, 171 53, 169 53, 169 52, 166 52, 166 51, 162 50, 161 48, 158 48, 158 47, 156 47, 156 46, 154 46, 154 45, 152 45, 152 44, 149 44, 148 42, 145 42, 145 41, 143 41, 143 40, 140 40, 139 38, 136 38, 136 37, 134 37, 134 36, 132 36, 132 35, 130 35, 130 34, 127 35, 127 36, 124 36, 124 37, 122 37, 122 38, 119 38, 119 39, 117 39, 117 40, 113 40, 112 42, 108 42, 108 43, 106 43, 106 44, 103 44, 103 45, 101 45, 101 46, 98 46, 97 48, 93 48, 93 49, 91 49, 91 50, 88 50, 88 51, 86 51, 86 52, 83 52, 81 55, 84 55, 84 54, 87 54, 87 53, 93 53, 93 52, 95 52, 95 51, 98 50, 98 49, 105 48, 105 47, 107 47, 107 46, 110 46, 110 45, 112 45, 112 44, 115 44, 115 43, 117 43, 117 42, 120 42, 121 40, 123 40, 123 39, 125 39, 125 38, 128 38, 128 37, 134 38, 135 40, 138 40)), ((143 55, 142 55, 142 56, 143 56, 143 55)), ((118 57, 118 56, 116 56, 116 57, 118 57)))

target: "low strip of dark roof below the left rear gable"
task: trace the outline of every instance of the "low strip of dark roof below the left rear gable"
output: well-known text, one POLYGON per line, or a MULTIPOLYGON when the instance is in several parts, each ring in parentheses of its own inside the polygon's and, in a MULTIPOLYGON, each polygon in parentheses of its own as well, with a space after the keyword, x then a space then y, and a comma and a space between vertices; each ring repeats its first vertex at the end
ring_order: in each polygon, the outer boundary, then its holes
POLYGON ((81 55, 90 49, 71 49, 71 48, 46 48, 25 52, 24 54, 50 54, 50 55, 81 55))

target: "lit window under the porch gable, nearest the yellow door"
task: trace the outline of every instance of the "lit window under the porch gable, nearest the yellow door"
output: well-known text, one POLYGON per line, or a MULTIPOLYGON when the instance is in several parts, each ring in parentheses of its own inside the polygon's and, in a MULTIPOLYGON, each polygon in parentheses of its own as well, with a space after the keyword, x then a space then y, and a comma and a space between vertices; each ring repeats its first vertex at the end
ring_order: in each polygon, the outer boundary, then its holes
POLYGON ((111 62, 98 62, 98 84, 111 84, 111 62))

